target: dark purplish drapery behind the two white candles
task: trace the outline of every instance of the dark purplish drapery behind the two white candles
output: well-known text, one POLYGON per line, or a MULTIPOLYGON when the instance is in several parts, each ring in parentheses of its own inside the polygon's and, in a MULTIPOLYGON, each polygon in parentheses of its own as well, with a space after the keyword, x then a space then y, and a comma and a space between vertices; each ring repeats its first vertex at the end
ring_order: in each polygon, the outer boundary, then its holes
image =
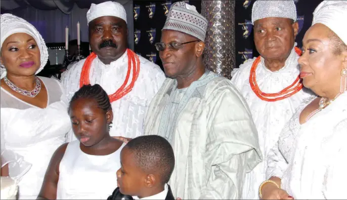
MULTIPOLYGON (((77 39, 77 21, 80 23, 82 42, 88 42, 86 13, 91 4, 106 0, 6 0, 1 1, 1 13, 11 13, 21 17, 41 33, 46 43, 64 43, 65 27, 69 28, 69 41, 77 39)), ((129 48, 134 50, 133 1, 114 1, 122 4, 126 12, 129 48)))

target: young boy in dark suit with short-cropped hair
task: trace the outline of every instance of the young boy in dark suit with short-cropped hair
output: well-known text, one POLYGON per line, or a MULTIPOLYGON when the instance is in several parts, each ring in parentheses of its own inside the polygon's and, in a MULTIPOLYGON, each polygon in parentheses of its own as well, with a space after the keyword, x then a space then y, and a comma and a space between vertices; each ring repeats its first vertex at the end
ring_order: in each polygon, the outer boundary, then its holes
POLYGON ((118 187, 107 200, 175 200, 167 184, 175 166, 170 143, 157 135, 140 136, 129 141, 120 152, 118 187))

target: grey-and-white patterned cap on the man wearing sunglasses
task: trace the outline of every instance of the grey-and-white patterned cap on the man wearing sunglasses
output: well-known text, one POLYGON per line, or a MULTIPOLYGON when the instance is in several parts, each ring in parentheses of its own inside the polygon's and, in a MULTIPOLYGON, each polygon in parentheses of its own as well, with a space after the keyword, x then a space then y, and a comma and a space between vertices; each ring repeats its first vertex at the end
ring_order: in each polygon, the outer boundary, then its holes
POLYGON ((184 32, 205 42, 207 20, 196 11, 195 6, 176 2, 171 5, 162 30, 184 32))

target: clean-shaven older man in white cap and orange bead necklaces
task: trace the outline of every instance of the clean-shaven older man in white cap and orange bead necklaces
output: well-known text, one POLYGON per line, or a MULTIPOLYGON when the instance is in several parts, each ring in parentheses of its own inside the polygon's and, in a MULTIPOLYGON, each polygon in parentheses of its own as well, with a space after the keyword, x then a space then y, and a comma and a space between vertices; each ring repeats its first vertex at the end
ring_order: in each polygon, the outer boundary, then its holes
MULTIPOLYGON (((254 44, 261 56, 233 71, 233 84, 245 97, 256 125, 264 160, 303 99, 294 46, 298 31, 294 1, 256 1, 252 8, 254 44)), ((258 187, 266 180, 266 162, 246 174, 243 199, 258 199, 258 187)))

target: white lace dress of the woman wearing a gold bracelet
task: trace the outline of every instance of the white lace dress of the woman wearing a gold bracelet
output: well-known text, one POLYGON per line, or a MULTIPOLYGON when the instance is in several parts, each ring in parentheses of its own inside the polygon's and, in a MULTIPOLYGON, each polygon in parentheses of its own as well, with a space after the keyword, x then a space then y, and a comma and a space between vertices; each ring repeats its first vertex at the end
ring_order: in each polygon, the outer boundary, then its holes
POLYGON ((281 178, 295 199, 347 199, 347 93, 300 125, 313 99, 303 101, 270 151, 267 178, 281 178))

